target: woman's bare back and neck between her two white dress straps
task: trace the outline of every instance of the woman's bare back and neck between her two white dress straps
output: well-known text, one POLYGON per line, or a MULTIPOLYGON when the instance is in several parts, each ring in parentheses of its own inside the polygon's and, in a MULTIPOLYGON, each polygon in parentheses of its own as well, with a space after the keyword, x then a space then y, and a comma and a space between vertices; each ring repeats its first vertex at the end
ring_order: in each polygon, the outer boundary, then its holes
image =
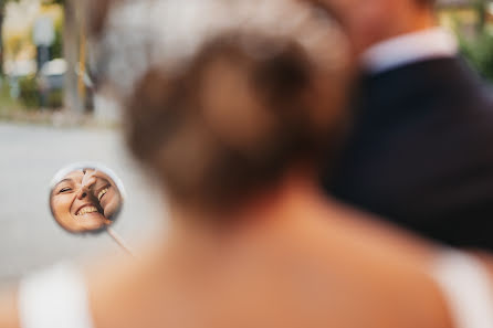
POLYGON ((327 203, 310 180, 264 190, 228 228, 171 205, 138 265, 88 268, 97 327, 453 327, 427 274, 436 245, 327 203))

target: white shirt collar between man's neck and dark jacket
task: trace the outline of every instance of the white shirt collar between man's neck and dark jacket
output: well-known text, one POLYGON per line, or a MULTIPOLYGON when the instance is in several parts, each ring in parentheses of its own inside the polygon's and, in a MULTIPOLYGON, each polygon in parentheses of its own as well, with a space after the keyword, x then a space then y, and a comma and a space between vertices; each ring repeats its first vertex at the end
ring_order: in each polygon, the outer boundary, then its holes
POLYGON ((451 57, 457 53, 455 36, 442 28, 433 28, 379 42, 365 51, 360 61, 365 70, 377 74, 422 60, 451 57))

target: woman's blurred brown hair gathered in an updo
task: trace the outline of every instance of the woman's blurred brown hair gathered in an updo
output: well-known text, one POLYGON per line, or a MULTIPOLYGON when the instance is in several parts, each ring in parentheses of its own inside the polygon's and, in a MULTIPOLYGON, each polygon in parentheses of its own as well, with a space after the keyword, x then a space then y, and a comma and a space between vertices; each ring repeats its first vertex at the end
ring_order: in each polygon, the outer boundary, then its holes
POLYGON ((336 140, 340 104, 317 99, 315 76, 293 41, 216 38, 178 73, 145 74, 126 106, 129 148, 178 201, 225 209, 336 140))

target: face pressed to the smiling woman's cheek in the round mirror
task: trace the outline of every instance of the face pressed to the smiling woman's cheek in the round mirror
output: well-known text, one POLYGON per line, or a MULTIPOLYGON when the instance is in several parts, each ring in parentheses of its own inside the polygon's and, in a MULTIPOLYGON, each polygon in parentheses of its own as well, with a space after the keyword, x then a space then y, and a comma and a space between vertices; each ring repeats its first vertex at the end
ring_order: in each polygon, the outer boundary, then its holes
POLYGON ((122 207, 122 195, 113 180, 104 172, 98 170, 86 170, 83 184, 91 191, 91 194, 98 200, 103 214, 108 220, 113 220, 122 207), (106 193, 98 199, 102 190, 107 189, 106 193))

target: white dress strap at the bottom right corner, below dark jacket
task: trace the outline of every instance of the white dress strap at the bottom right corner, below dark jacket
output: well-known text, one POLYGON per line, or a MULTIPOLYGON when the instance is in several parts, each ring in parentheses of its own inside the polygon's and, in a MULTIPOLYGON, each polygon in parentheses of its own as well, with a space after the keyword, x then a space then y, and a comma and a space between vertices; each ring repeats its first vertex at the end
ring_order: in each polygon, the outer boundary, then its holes
POLYGON ((448 301, 454 327, 493 327, 493 284, 478 260, 445 251, 436 263, 433 278, 448 301))

